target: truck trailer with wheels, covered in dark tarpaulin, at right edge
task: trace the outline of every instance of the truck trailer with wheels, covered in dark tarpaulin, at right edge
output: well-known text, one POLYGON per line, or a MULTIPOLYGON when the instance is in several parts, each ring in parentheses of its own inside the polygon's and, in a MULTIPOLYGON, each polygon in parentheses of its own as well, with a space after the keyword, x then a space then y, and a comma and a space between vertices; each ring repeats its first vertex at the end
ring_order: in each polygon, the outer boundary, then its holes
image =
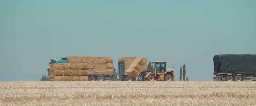
POLYGON ((215 55, 214 81, 256 81, 256 54, 215 55))

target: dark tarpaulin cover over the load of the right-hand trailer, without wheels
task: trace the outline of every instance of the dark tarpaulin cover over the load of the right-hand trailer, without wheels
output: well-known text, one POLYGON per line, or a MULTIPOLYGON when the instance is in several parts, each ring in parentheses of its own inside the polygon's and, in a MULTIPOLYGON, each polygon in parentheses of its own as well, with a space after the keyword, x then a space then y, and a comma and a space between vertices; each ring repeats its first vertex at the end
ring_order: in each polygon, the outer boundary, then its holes
POLYGON ((214 73, 256 74, 256 54, 215 55, 214 73))

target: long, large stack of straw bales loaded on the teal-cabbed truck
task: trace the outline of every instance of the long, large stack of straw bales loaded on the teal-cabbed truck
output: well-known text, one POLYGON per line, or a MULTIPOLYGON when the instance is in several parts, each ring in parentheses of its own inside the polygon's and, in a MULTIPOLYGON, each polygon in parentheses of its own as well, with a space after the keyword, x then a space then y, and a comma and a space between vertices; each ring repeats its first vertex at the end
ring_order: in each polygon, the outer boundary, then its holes
POLYGON ((50 64, 50 81, 88 81, 88 74, 113 74, 113 58, 68 56, 69 63, 50 64))

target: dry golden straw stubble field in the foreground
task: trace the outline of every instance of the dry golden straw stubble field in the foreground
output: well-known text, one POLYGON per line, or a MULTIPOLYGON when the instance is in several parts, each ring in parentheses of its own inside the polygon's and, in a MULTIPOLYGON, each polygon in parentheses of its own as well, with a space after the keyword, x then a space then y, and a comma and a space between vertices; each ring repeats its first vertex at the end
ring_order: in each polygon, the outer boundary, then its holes
POLYGON ((256 82, 0 82, 0 105, 256 105, 256 82))

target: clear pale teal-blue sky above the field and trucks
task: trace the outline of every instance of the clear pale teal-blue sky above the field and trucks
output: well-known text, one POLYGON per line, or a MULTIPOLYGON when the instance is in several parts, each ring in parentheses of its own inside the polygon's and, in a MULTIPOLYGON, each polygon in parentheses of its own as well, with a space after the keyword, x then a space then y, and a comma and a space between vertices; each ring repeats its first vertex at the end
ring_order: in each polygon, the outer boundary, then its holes
POLYGON ((211 81, 216 54, 256 54, 254 0, 0 0, 0 81, 38 81, 50 59, 145 57, 211 81))

